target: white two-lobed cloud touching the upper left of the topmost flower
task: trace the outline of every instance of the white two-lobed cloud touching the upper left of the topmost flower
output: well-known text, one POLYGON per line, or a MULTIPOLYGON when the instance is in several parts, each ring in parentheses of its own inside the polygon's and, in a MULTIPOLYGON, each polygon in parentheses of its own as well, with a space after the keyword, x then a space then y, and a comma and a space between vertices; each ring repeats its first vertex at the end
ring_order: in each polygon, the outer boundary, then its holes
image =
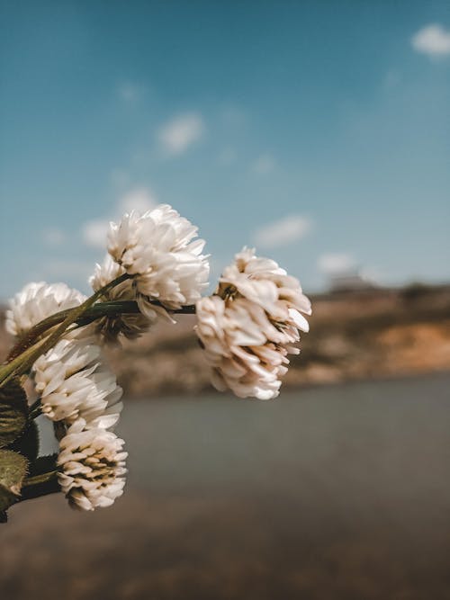
POLYGON ((103 219, 90 219, 85 221, 81 228, 81 235, 86 246, 104 248, 110 220, 121 219, 124 212, 138 210, 145 212, 157 205, 156 196, 147 187, 138 187, 125 193, 117 202, 112 214, 103 219))

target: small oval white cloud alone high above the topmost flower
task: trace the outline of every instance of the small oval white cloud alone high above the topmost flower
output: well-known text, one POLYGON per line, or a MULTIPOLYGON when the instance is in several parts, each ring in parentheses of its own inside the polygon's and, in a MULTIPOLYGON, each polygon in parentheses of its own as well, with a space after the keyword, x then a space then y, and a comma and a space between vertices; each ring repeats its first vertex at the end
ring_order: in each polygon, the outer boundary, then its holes
POLYGON ((157 138, 166 154, 176 156, 183 154, 196 141, 202 139, 204 132, 202 116, 193 112, 168 121, 157 132, 157 138))

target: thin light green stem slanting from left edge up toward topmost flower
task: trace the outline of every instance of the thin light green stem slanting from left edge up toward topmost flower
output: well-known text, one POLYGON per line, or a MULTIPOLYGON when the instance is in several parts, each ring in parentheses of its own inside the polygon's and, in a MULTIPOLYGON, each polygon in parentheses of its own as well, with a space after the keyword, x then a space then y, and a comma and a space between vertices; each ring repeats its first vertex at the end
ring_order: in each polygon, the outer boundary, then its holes
POLYGON ((40 344, 31 346, 31 348, 25 350, 23 354, 14 358, 11 363, 5 364, 0 368, 0 387, 4 386, 5 383, 10 381, 13 377, 28 372, 31 369, 32 364, 40 357, 40 355, 45 354, 52 348, 58 342, 58 339, 65 333, 67 327, 72 325, 72 323, 75 323, 76 320, 83 315, 86 309, 89 309, 96 300, 103 296, 104 293, 127 279, 130 279, 130 275, 128 273, 123 273, 120 277, 117 277, 117 279, 104 285, 99 291, 95 291, 95 293, 85 300, 85 302, 80 304, 80 306, 77 306, 75 309, 70 309, 67 313, 67 317, 64 318, 62 323, 60 323, 49 337, 40 342, 40 344))

